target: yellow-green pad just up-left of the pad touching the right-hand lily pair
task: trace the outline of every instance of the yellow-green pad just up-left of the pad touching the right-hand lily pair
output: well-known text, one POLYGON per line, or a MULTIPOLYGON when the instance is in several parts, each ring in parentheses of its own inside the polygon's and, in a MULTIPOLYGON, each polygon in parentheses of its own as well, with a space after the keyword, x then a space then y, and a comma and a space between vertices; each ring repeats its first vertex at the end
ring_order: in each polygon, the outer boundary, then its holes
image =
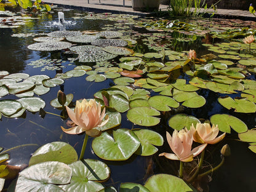
POLYGON ((164 95, 150 97, 148 103, 158 111, 170 111, 171 107, 177 108, 180 106, 173 98, 164 95))

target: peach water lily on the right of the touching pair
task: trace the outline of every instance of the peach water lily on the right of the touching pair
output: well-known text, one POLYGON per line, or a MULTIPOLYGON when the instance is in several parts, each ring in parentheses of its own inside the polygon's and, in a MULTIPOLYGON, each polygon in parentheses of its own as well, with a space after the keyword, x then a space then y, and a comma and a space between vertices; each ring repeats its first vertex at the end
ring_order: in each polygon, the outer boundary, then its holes
POLYGON ((223 133, 222 135, 218 136, 218 125, 212 125, 212 127, 210 127, 209 123, 197 123, 196 128, 194 128, 194 124, 192 124, 190 130, 193 133, 194 142, 198 143, 215 144, 220 142, 226 134, 223 133))

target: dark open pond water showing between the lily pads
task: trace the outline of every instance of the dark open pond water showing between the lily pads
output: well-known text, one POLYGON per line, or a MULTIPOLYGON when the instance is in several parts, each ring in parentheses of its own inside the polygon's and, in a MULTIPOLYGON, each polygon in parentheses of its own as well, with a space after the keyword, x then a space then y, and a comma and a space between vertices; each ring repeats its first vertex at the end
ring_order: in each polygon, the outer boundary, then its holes
MULTIPOLYGON (((127 27, 127 31, 129 31, 127 34, 134 36, 134 39, 138 41, 138 45, 134 47, 134 50, 137 52, 145 53, 150 50, 143 42, 143 38, 140 38, 141 34, 145 33, 149 36, 156 36, 156 34, 150 33, 150 31, 146 31, 143 28, 130 25, 130 20, 127 20, 126 23, 126 16, 124 16, 125 22, 114 22, 109 19, 90 20, 90 13, 86 14, 78 10, 60 10, 65 13, 66 20, 76 23, 75 25, 66 26, 66 30, 86 31, 105 30, 106 28, 120 30, 120 28, 122 28, 120 23, 123 23, 124 26, 127 27), (116 23, 119 24, 116 25, 116 23), (132 32, 130 33, 130 31, 132 32)), ((54 78, 56 73, 60 73, 60 70, 49 70, 47 68, 46 70, 42 70, 44 66, 35 68, 33 65, 29 64, 39 59, 62 60, 62 66, 64 66, 61 70, 62 73, 73 69, 76 65, 84 65, 84 63, 72 63, 67 61, 60 52, 49 53, 29 50, 27 46, 34 43, 34 37, 28 36, 23 38, 22 36, 15 37, 12 35, 49 33, 51 31, 60 30, 59 25, 54 25, 58 22, 58 10, 56 9, 54 11, 55 12, 52 14, 33 16, 33 19, 26 20, 24 25, 18 28, 0 28, 1 71, 9 71, 9 73, 28 73, 30 76, 35 74, 47 74, 51 78, 54 78)), ((126 30, 124 30, 124 33, 125 31, 126 30)), ((161 32, 158 32, 158 34, 160 35, 161 32)), ((205 47, 201 46, 202 40, 206 40, 204 37, 198 37, 198 39, 193 42, 180 42, 175 41, 175 39, 181 36, 184 37, 184 34, 170 33, 169 35, 173 37, 172 44, 168 46, 170 49, 177 51, 194 49, 198 52, 198 55, 209 53, 205 47)), ((158 40, 153 40, 151 44, 156 43, 159 46, 159 44, 164 44, 166 40, 161 41, 162 42, 159 43, 158 40)), ((116 60, 113 62, 116 62, 116 60)), ((92 66, 95 65, 95 63, 89 63, 89 65, 92 66)), ((41 95, 40 97, 46 102, 44 110, 50 113, 60 114, 60 110, 50 106, 50 100, 57 96, 58 90, 62 90, 66 94, 73 94, 73 101, 76 101, 81 98, 93 98, 95 92, 114 84, 112 79, 106 79, 106 81, 103 82, 88 82, 85 81, 86 76, 87 74, 79 78, 66 79, 65 83, 61 86, 52 87, 47 94, 41 95)), ((184 74, 178 73, 175 74, 175 76, 180 78, 183 77, 184 74)), ((184 77, 188 79, 188 76, 184 77)), ((254 76, 250 76, 249 78, 254 78, 254 76)), ((186 114, 207 119, 212 114, 226 113, 242 119, 249 129, 255 127, 255 114, 238 114, 226 110, 217 102, 217 98, 222 96, 222 94, 204 89, 199 90, 198 94, 204 95, 204 97, 207 98, 206 105, 196 109, 188 108, 185 111, 186 114)), ((233 94, 231 97, 235 96, 236 95, 233 94)), ((14 95, 7 95, 0 98, 0 100, 6 98, 17 99, 14 95)), ((172 113, 166 113, 167 119, 169 119, 170 116, 172 116, 172 113)), ((30 113, 28 111, 22 118, 14 119, 2 117, 0 122, 0 146, 5 149, 12 148, 12 150, 9 151, 9 163, 12 165, 28 164, 28 160, 33 151, 41 145, 54 141, 70 143, 79 153, 84 136, 64 134, 60 126, 65 127, 65 124, 66 121, 63 121, 57 116, 47 114, 45 118, 41 118, 38 113, 30 113), (16 146, 17 148, 15 148, 16 146)), ((131 129, 133 126, 132 122, 127 120, 126 113, 122 114, 121 127, 131 129)), ((165 135, 166 129, 168 129, 167 127, 166 123, 162 121, 158 126, 148 128, 158 131, 161 135, 165 135)), ((140 126, 134 126, 134 128, 140 128, 140 126)), ((209 191, 255 191, 256 155, 247 148, 247 143, 238 142, 236 141, 237 138, 237 134, 230 134, 216 147, 217 149, 215 149, 215 151, 206 152, 206 161, 214 165, 217 165, 218 162, 221 161, 218 151, 225 143, 230 145, 232 155, 230 158, 226 159, 224 166, 214 172, 211 182, 202 183, 204 189, 207 188, 208 185, 209 191)), ((91 142, 92 138, 89 138, 85 153, 86 158, 100 159, 93 153, 90 145, 91 142)), ((176 162, 158 158, 159 153, 166 152, 168 149, 169 146, 165 143, 164 146, 159 147, 159 152, 154 156, 142 157, 133 155, 127 161, 104 161, 111 169, 111 178, 105 184, 118 188, 119 184, 123 182, 143 184, 146 178, 150 177, 151 174, 177 174, 175 170, 177 170, 178 164, 176 162)), ((102 161, 102 159, 100 160, 102 161)))

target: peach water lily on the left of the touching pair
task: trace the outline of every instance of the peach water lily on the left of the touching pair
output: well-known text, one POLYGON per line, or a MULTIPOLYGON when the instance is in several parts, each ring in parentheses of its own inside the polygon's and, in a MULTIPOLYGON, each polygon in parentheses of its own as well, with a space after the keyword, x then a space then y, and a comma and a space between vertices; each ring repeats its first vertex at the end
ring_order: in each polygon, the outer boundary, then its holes
POLYGON ((193 158, 206 148, 207 144, 202 144, 192 148, 193 135, 191 130, 174 130, 172 136, 166 132, 167 142, 174 153, 161 153, 159 156, 165 156, 168 159, 180 160, 183 162, 193 161, 193 158))

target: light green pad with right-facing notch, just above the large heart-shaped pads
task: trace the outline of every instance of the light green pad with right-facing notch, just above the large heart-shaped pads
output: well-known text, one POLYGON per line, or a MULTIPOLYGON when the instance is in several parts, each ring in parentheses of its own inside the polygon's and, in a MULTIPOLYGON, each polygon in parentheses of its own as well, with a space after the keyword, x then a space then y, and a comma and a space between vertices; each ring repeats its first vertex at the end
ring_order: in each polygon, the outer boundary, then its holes
POLYGON ((127 118, 140 126, 155 126, 160 122, 160 112, 149 107, 135 107, 127 111, 127 118))

